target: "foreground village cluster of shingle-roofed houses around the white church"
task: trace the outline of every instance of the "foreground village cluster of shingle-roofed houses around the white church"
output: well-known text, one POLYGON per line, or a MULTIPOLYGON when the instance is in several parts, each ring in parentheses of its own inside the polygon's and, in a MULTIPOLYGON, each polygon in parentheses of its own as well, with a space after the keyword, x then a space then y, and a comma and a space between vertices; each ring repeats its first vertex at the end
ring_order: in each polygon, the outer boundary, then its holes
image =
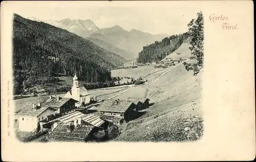
POLYGON ((149 101, 134 97, 95 100, 75 74, 72 89, 64 97, 40 96, 22 108, 16 114, 18 130, 48 134, 47 142, 106 141, 118 135, 115 126, 137 119, 149 101))

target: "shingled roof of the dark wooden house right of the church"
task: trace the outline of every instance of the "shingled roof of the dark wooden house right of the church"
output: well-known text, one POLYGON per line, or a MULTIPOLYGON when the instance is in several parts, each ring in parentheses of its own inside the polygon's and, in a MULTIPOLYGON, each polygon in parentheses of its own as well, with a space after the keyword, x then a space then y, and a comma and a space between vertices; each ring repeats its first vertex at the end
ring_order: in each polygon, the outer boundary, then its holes
POLYGON ((105 100, 98 108, 99 111, 125 112, 133 103, 131 100, 105 100), (117 104, 115 101, 118 101, 117 104))

